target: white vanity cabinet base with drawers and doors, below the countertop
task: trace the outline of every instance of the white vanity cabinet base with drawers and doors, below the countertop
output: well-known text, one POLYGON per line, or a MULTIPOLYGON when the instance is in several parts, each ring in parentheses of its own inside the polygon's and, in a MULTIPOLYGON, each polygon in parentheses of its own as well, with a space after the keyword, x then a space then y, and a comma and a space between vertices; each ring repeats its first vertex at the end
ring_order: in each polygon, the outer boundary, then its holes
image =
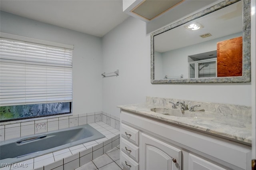
POLYGON ((121 110, 128 170, 250 170, 251 146, 121 110))

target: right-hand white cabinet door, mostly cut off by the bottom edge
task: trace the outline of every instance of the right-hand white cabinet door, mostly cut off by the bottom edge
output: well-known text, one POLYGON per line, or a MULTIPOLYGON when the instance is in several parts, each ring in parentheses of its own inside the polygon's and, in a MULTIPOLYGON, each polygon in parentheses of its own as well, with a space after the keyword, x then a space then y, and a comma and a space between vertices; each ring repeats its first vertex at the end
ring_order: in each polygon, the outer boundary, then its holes
POLYGON ((207 160, 189 154, 188 166, 190 170, 225 170, 218 165, 215 165, 207 160))

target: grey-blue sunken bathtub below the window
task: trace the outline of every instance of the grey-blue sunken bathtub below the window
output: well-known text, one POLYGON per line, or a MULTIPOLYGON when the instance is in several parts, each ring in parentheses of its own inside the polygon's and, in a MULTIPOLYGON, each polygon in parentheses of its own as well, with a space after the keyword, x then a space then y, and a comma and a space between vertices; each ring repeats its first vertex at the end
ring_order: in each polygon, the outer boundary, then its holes
POLYGON ((104 137, 90 125, 80 125, 4 140, 0 142, 0 164, 17 163, 104 137))

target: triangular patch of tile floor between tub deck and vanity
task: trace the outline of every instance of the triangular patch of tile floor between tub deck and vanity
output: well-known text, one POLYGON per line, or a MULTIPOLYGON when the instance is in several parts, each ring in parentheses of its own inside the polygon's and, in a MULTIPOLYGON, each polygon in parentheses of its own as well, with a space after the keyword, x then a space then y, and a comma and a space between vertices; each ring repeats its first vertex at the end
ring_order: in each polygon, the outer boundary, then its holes
POLYGON ((122 170, 120 145, 75 170, 122 170))

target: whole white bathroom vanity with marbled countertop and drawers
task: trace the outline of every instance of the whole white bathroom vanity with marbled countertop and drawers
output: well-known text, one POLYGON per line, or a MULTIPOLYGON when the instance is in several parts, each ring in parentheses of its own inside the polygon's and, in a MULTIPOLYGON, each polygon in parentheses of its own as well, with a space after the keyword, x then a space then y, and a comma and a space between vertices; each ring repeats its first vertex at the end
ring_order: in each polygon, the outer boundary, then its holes
POLYGON ((201 105, 192 112, 173 109, 169 101, 178 100, 147 97, 146 103, 118 106, 124 169, 251 169, 249 107, 185 101, 187 106, 201 105))

